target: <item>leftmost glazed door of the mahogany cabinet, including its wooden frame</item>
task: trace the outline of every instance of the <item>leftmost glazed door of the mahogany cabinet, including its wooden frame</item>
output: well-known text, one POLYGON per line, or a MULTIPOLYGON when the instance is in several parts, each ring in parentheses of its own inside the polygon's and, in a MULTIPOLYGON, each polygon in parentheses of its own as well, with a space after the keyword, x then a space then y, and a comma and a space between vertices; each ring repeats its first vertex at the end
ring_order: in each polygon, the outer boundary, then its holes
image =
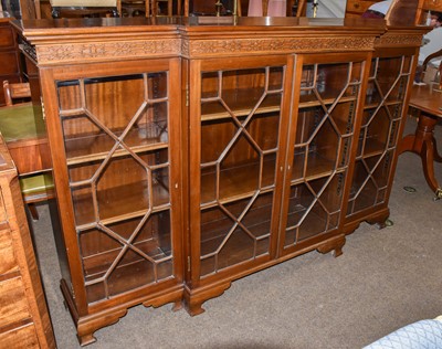
POLYGON ((63 276, 81 316, 182 282, 179 64, 41 71, 70 268, 63 276))

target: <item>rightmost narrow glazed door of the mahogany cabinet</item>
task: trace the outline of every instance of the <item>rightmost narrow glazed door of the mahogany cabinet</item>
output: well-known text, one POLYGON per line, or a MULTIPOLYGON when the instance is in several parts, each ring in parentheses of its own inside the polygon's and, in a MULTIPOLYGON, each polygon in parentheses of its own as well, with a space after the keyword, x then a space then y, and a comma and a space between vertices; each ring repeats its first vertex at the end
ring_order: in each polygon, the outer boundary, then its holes
POLYGON ((407 91, 412 83, 415 50, 382 50, 371 62, 347 221, 377 214, 388 218, 397 147, 401 137, 407 91))

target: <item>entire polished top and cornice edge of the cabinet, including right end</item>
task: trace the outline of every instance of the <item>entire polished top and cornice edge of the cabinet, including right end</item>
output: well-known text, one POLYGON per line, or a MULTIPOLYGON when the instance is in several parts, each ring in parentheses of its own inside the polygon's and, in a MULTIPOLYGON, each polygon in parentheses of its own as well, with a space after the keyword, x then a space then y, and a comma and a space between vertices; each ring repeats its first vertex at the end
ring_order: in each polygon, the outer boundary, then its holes
MULTIPOLYGON (((250 35, 380 35, 390 29, 419 30, 418 27, 387 25, 383 20, 359 18, 271 18, 271 17, 162 17, 162 18, 95 18, 95 19, 46 19, 14 21, 23 36, 32 41, 46 42, 95 36, 118 35, 175 35, 189 38, 200 35, 233 34, 250 35)), ((420 30, 423 30, 421 28, 420 30)), ((427 31, 427 30, 425 30, 427 31)))

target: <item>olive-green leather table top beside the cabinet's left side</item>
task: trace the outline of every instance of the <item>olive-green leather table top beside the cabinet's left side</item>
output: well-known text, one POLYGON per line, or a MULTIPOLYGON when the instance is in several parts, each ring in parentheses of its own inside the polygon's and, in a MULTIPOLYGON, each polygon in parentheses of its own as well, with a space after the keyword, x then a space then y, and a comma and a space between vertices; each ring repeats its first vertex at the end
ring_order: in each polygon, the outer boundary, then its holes
POLYGON ((0 131, 7 142, 46 137, 44 120, 34 117, 34 107, 31 103, 1 107, 0 131))

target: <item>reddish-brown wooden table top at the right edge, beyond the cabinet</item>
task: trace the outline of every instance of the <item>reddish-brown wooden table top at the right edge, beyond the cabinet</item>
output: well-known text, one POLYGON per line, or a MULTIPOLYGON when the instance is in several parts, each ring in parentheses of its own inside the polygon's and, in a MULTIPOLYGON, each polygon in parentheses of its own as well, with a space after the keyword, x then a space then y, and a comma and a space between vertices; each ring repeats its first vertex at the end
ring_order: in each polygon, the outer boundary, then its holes
POLYGON ((411 91, 410 107, 442 118, 442 91, 435 84, 414 85, 411 91))

